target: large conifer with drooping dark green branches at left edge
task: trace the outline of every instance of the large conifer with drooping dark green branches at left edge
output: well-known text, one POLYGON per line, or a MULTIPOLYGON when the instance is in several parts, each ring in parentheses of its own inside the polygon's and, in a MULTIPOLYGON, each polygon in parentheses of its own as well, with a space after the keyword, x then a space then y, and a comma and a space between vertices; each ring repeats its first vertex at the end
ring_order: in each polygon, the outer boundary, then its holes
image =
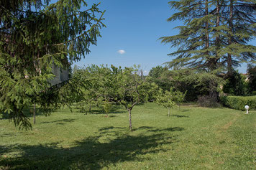
POLYGON ((30 126, 23 110, 32 103, 49 113, 78 94, 79 77, 50 87, 52 67, 68 69, 90 52, 104 27, 98 6, 84 0, 0 1, 0 111, 15 125, 30 126))

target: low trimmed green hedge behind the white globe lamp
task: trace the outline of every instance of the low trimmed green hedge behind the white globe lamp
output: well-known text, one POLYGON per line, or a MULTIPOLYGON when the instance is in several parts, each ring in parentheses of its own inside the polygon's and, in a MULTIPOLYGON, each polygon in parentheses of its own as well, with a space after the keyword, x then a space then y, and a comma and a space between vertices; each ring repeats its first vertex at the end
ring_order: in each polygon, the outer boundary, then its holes
POLYGON ((221 103, 229 108, 245 110, 244 106, 249 105, 249 110, 256 110, 256 95, 254 96, 222 96, 221 103))

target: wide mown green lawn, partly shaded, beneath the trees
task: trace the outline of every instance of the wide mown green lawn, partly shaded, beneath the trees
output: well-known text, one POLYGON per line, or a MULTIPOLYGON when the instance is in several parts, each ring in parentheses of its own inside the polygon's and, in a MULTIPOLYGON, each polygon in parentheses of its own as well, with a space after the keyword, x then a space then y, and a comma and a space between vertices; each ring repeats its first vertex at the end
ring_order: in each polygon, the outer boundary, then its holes
POLYGON ((32 131, 0 116, 0 169, 256 169, 256 111, 154 103, 109 117, 68 109, 37 115, 32 131))

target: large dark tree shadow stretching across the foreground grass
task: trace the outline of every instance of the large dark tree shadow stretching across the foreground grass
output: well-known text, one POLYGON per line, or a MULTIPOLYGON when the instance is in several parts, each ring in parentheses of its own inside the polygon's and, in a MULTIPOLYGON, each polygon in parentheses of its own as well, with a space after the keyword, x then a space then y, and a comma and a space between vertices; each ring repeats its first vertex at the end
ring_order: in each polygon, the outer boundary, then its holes
MULTIPOLYGON (((182 131, 178 127, 159 129, 143 126, 150 131, 182 131)), ((111 132, 118 133, 122 127, 100 128, 99 136, 76 141, 70 148, 62 148, 59 143, 47 143, 36 146, 9 145, 0 146, 0 168, 9 169, 102 169, 124 161, 143 161, 146 154, 165 151, 164 144, 175 142, 170 133, 130 136, 122 134, 106 143, 99 141, 111 132), (19 151, 15 158, 5 158, 5 153, 19 151)), ((181 129, 181 128, 180 128, 181 129)), ((114 136, 114 134, 113 134, 114 136)))

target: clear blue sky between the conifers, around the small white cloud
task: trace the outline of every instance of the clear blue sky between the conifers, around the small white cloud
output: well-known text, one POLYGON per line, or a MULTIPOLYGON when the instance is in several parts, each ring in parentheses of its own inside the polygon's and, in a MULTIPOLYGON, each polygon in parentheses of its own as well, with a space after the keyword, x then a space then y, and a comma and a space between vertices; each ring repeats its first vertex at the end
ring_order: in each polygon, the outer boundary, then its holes
MULTIPOLYGON (((161 44, 160 37, 177 34, 174 27, 181 22, 167 22, 173 14, 170 0, 101 0, 99 9, 106 10, 104 24, 97 46, 75 65, 141 65, 145 75, 152 67, 172 60, 170 44, 161 44), (123 51, 119 51, 123 50, 123 51), (123 54, 122 54, 123 53, 123 54)), ((88 1, 98 3, 99 0, 88 1)), ((246 72, 246 65, 239 72, 246 72)))

